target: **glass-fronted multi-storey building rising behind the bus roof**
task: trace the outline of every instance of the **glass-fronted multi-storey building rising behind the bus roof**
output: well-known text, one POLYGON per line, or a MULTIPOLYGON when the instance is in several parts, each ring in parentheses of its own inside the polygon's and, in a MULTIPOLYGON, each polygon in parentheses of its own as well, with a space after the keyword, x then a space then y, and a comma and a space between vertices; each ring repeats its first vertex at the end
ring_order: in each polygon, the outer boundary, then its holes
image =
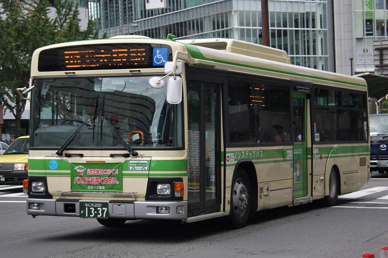
MULTIPOLYGON (((100 35, 136 34, 177 39, 233 38, 260 44, 260 0, 88 0, 100 35)), ((334 71, 332 0, 269 0, 270 44, 287 51, 291 63, 334 71)))

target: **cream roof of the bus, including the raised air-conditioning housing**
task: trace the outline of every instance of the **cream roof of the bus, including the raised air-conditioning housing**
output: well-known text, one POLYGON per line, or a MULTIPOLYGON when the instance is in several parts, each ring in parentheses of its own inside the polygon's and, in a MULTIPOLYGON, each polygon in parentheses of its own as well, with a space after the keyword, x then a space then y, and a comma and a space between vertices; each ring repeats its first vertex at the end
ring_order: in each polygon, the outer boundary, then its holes
MULTIPOLYGON (((82 46, 112 43, 149 43, 169 45, 172 51, 187 52, 189 63, 209 67, 242 72, 260 76, 282 78, 290 81, 300 81, 309 84, 336 86, 340 88, 367 91, 363 78, 336 74, 323 70, 307 68, 289 63, 289 56, 283 50, 259 46, 232 39, 201 39, 201 40, 165 40, 149 39, 143 36, 118 36, 111 39, 87 40, 61 43, 41 47, 32 56, 31 76, 66 76, 61 72, 39 72, 38 57, 42 50, 64 46, 82 46), (218 44, 218 45, 217 45, 218 44), (210 46, 210 47, 209 47, 210 46), (222 47, 221 47, 222 46, 222 47), (212 47, 212 48, 211 48, 212 47), (220 49, 221 47, 221 49, 220 49), (216 49, 214 49, 216 48, 216 49)), ((129 69, 77 71, 77 75, 128 74, 129 69)), ((163 68, 144 68, 142 73, 162 73, 163 68)))

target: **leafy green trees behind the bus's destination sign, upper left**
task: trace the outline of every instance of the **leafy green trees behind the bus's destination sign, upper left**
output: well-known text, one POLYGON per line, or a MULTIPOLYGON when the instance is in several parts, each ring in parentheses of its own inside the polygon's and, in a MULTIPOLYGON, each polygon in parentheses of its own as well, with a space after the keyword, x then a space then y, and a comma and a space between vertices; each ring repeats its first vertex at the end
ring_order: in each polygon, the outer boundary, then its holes
POLYGON ((92 19, 80 30, 78 5, 54 0, 55 18, 50 18, 48 0, 0 0, 0 104, 16 119, 16 136, 25 108, 16 88, 28 86, 32 53, 53 43, 98 38, 92 19))

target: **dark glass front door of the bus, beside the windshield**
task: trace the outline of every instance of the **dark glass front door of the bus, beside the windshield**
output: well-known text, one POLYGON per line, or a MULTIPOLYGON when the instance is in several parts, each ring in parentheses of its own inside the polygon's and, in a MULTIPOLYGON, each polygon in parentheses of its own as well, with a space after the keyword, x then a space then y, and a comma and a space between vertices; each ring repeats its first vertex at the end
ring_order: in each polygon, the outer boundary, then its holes
POLYGON ((187 81, 188 216, 220 211, 221 84, 187 81))

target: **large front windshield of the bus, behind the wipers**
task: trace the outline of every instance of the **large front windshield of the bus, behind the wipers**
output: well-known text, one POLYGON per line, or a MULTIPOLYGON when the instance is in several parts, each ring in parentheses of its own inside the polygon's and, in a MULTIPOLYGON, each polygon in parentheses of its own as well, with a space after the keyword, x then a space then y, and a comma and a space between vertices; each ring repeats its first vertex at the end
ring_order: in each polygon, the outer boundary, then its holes
POLYGON ((168 104, 151 77, 34 80, 32 146, 59 148, 85 123, 69 148, 124 149, 115 135, 131 147, 182 147, 181 104, 168 104))

